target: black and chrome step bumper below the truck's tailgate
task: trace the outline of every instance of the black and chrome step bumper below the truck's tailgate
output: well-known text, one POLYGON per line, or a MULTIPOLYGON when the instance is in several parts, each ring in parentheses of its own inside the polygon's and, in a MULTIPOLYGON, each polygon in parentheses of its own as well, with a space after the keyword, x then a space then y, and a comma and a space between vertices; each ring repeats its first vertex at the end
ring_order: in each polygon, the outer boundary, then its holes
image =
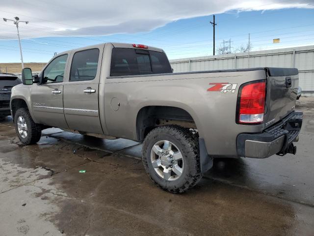
POLYGON ((238 156, 266 158, 273 154, 295 154, 296 141, 301 126, 302 112, 292 112, 274 126, 259 134, 239 134, 236 140, 238 156))

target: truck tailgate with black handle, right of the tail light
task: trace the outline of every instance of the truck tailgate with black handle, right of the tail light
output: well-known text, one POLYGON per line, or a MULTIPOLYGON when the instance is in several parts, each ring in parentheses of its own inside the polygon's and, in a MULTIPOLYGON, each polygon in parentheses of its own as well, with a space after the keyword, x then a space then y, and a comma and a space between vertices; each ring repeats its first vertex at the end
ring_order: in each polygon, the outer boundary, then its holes
POLYGON ((267 74, 265 127, 288 116, 295 108, 299 76, 296 68, 265 68, 267 74))

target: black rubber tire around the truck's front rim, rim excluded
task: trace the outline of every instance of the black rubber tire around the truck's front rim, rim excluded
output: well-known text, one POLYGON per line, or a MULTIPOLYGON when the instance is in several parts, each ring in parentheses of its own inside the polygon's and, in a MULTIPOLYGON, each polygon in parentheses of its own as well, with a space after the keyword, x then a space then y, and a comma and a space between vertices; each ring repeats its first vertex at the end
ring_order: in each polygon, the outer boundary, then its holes
POLYGON ((31 118, 29 111, 27 108, 19 108, 14 116, 14 126, 16 134, 24 145, 36 144, 41 137, 41 126, 36 124, 34 120, 31 118), (18 118, 23 117, 25 119, 27 125, 27 136, 23 138, 18 131, 18 118))

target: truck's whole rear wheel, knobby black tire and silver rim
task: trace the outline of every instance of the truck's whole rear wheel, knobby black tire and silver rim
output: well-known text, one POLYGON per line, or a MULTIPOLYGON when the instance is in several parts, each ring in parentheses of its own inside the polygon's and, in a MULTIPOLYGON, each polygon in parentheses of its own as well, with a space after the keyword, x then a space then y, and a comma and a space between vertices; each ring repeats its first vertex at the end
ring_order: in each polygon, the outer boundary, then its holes
POLYGON ((142 154, 149 177, 171 193, 183 193, 202 177, 198 142, 180 126, 153 129, 144 140, 142 154))

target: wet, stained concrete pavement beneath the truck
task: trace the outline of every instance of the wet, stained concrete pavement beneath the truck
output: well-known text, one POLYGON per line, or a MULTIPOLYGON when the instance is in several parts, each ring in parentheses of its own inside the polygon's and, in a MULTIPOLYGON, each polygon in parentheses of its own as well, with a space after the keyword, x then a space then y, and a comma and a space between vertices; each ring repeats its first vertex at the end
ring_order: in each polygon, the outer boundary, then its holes
POLYGON ((150 181, 141 144, 52 128, 23 146, 9 117, 0 122, 0 236, 313 236, 314 99, 297 109, 296 155, 216 160, 181 195, 150 181))

